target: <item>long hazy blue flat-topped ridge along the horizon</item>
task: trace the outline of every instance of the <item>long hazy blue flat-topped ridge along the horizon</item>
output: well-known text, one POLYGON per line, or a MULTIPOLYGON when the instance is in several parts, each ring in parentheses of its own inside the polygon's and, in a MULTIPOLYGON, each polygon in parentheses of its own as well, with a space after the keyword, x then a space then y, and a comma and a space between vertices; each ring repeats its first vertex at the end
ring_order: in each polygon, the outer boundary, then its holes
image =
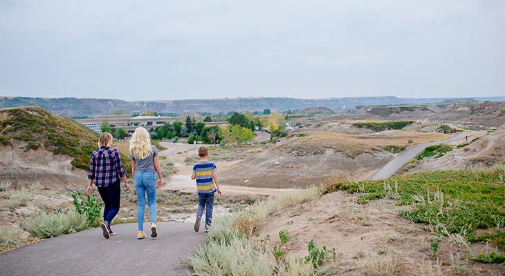
MULTIPOLYGON (((505 101, 505 97, 477 97, 477 101, 505 101)), ((460 98, 398 98, 384 97, 342 97, 328 99, 295 99, 288 97, 239 97, 225 99, 183 99, 174 101, 123 101, 120 99, 78 99, 78 98, 32 98, 32 97, 0 97, 0 108, 17 106, 40 106, 46 110, 66 116, 95 116, 111 114, 114 110, 122 110, 125 114, 154 110, 166 113, 184 112, 230 112, 230 111, 262 111, 300 110, 315 106, 330 109, 354 108, 355 106, 376 106, 394 104, 421 104, 457 100, 460 98)))

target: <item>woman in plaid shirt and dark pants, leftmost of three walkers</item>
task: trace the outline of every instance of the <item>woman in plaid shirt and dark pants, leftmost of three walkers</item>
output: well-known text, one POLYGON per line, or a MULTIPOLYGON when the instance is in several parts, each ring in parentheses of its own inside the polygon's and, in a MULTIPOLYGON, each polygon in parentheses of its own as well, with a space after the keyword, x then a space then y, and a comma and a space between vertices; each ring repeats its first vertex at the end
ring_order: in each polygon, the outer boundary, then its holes
POLYGON ((104 222, 101 227, 106 239, 116 234, 111 230, 111 222, 119 211, 121 179, 125 182, 126 190, 129 190, 121 155, 116 148, 110 148, 111 144, 112 135, 107 132, 102 133, 98 140, 98 149, 93 151, 89 161, 88 189, 86 190, 86 195, 91 195, 94 182, 104 201, 104 222))

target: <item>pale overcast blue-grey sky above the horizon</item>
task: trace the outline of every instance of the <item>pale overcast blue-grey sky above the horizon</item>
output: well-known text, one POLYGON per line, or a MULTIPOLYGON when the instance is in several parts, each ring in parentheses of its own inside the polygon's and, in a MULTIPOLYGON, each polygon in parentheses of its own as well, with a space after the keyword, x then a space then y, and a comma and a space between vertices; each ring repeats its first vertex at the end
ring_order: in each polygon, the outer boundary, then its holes
POLYGON ((0 0, 0 95, 505 95, 505 1, 0 0))

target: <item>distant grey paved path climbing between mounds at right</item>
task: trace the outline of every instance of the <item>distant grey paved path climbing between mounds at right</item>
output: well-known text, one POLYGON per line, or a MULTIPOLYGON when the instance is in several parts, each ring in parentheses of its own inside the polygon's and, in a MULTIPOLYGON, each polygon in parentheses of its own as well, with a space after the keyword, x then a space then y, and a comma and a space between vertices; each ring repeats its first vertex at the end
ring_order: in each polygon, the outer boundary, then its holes
POLYGON ((370 179, 386 179, 388 177, 391 177, 394 175, 398 170, 400 170, 405 164, 410 162, 410 160, 414 159, 419 153, 423 152, 423 150, 428 147, 428 146, 433 146, 433 145, 438 145, 438 144, 445 144, 445 143, 450 143, 454 141, 459 141, 461 139, 465 139, 466 134, 463 135, 456 135, 454 137, 450 137, 445 140, 441 141, 434 141, 434 142, 429 142, 425 144, 419 144, 412 146, 410 148, 407 148, 404 152, 402 152, 400 155, 389 161, 385 166, 380 168, 374 175, 370 177, 370 179))

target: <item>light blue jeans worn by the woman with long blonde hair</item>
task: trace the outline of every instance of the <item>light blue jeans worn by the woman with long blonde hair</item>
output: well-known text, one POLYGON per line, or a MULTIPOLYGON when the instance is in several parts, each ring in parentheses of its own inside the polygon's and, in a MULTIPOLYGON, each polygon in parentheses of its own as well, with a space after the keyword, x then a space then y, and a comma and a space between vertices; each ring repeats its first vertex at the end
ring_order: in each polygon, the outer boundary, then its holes
POLYGON ((149 171, 136 171, 135 190, 137 192, 138 199, 138 230, 143 231, 146 193, 147 202, 149 204, 149 217, 151 217, 151 222, 156 224, 156 174, 149 171))

